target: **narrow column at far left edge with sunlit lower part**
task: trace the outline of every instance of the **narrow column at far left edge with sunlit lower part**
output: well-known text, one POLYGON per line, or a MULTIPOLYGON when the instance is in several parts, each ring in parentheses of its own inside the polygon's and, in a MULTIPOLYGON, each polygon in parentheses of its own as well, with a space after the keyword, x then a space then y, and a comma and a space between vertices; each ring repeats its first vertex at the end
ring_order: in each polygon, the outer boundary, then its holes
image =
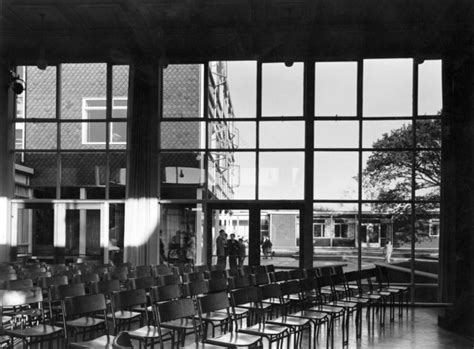
POLYGON ((9 88, 10 69, 0 61, 0 262, 16 258, 11 250, 11 204, 15 190, 14 148, 14 95, 9 88), (11 255, 13 254, 13 255, 11 255))

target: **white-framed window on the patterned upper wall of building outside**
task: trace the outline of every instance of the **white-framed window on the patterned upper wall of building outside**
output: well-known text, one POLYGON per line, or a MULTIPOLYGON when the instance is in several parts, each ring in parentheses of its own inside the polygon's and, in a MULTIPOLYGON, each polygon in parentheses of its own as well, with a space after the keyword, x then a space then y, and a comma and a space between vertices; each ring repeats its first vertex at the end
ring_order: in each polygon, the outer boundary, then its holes
MULTIPOLYGON (((104 144, 106 138, 106 99, 83 98, 82 116, 87 120, 103 120, 104 122, 88 122, 82 125, 83 144, 104 144)), ((127 98, 114 97, 112 102, 112 118, 127 117, 127 98)), ((125 122, 110 122, 109 143, 126 144, 127 127, 125 122)))

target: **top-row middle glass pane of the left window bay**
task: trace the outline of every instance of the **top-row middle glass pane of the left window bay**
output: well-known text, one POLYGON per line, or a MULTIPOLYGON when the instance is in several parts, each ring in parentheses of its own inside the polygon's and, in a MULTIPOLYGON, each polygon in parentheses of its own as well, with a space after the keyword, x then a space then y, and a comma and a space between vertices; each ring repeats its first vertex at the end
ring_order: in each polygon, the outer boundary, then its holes
POLYGON ((106 96, 107 65, 62 64, 61 68, 61 118, 105 118, 103 103, 106 96), (89 105, 89 99, 102 100, 102 106, 89 105))

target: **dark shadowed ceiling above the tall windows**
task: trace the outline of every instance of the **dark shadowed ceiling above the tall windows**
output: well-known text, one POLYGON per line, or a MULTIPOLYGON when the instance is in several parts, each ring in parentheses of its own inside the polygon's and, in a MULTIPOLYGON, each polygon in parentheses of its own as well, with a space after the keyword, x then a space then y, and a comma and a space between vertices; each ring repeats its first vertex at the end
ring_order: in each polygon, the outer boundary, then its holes
POLYGON ((474 51, 472 0, 0 0, 0 57, 440 57, 474 51))

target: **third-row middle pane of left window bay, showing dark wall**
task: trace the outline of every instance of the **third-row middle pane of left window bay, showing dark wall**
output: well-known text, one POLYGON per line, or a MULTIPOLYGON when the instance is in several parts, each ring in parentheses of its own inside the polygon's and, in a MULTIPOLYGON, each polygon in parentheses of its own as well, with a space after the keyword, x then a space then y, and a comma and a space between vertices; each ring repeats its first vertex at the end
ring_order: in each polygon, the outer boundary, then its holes
POLYGON ((61 198, 104 199, 105 153, 61 154, 61 198))

